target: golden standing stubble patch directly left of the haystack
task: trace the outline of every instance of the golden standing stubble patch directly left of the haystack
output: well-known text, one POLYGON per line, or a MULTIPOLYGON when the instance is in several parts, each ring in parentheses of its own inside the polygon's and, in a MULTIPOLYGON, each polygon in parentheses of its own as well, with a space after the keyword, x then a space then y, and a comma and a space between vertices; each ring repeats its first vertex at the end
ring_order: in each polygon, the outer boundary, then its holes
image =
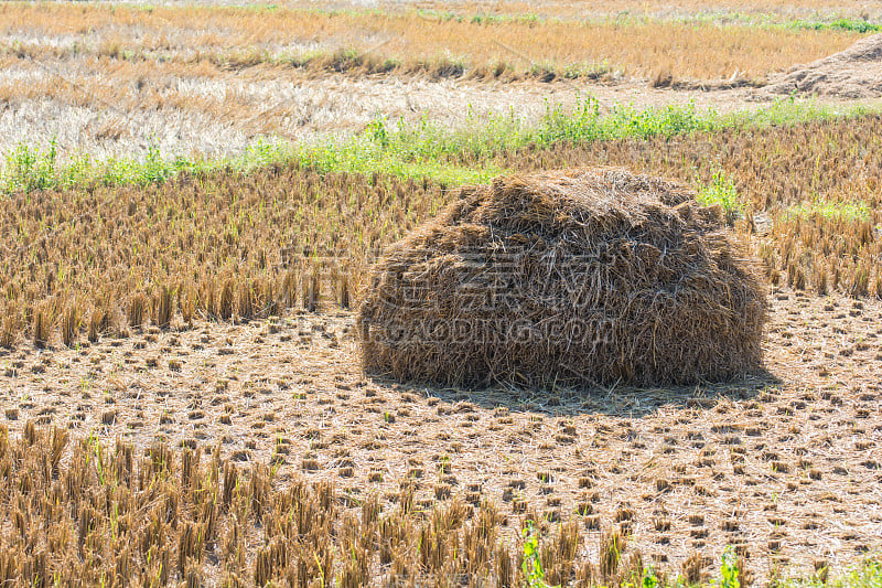
POLYGON ((17 194, 0 213, 0 343, 349 308, 366 264, 445 197, 428 181, 297 167, 17 194))

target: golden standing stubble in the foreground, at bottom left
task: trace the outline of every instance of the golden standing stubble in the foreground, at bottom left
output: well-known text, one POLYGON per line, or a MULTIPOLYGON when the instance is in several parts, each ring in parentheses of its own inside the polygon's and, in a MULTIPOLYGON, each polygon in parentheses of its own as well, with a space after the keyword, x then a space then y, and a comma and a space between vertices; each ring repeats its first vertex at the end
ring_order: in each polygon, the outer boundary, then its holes
MULTIPOLYGON (((280 484, 272 462, 240 464, 218 448, 111 446, 28 423, 18 438, 0 428, 0 473, 4 586, 512 587, 530 569, 517 537, 528 521, 553 584, 620 586, 644 570, 619 528, 585 557, 596 539, 579 513, 555 525, 459 496, 422 509, 409 480, 362 498, 327 481, 280 484)), ((692 557, 682 570, 697 581, 703 565, 692 557)))

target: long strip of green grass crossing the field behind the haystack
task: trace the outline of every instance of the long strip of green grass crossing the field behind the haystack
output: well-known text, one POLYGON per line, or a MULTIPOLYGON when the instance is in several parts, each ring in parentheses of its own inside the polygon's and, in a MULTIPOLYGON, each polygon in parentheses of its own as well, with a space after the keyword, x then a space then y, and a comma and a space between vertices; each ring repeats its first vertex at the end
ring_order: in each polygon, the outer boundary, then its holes
MULTIPOLYGON (((31 192, 87 184, 148 184, 182 172, 234 170, 297 161, 320 172, 389 173, 399 178, 428 178, 448 185, 484 182, 507 170, 494 160, 527 147, 545 149, 559 143, 584 145, 623 138, 675 137, 722 129, 752 129, 795 125, 836 117, 858 117, 882 111, 880 105, 837 108, 793 97, 756 109, 720 114, 700 110, 693 104, 638 109, 615 106, 602 110, 593 97, 578 99, 564 108, 547 105, 534 122, 517 117, 469 115, 465 124, 451 129, 423 119, 418 124, 390 122, 377 118, 367 129, 348 139, 295 145, 266 138, 234 158, 206 160, 164 157, 158 147, 141 159, 95 160, 74 154, 61 163, 54 141, 49 148, 21 143, 4 158, 0 192, 31 192)), ((709 200, 731 196, 723 184, 709 191, 709 200), (714 192, 716 190, 716 192, 714 192)), ((731 200, 731 199, 730 199, 731 200)), ((733 202, 721 202, 725 206, 733 202)))

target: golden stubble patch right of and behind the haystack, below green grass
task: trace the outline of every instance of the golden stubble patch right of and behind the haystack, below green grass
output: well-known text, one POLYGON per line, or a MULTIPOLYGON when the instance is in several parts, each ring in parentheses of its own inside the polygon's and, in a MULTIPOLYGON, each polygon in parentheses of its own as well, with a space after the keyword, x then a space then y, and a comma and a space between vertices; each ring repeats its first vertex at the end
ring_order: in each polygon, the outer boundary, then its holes
POLYGON ((882 297, 882 117, 503 153, 515 169, 624 165, 692 185, 731 180, 735 228, 773 285, 882 297), (853 211, 859 210, 859 214, 853 211))

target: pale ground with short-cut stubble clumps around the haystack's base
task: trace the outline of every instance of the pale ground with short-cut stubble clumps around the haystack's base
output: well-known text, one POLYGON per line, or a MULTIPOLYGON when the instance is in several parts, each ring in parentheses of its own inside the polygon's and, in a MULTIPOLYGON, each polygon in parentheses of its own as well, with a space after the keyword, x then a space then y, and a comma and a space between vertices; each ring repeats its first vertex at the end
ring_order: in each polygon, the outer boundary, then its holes
POLYGON ((761 576, 847 565, 882 548, 882 303, 771 301, 767 372, 725 385, 400 385, 361 373, 352 314, 301 312, 0 351, 0 420, 219 443, 244 462, 278 446, 278 483, 330 479, 355 496, 391 499, 413 478, 423 506, 487 498, 551 523, 578 510, 675 571, 695 552, 719 562, 727 544, 761 576))

